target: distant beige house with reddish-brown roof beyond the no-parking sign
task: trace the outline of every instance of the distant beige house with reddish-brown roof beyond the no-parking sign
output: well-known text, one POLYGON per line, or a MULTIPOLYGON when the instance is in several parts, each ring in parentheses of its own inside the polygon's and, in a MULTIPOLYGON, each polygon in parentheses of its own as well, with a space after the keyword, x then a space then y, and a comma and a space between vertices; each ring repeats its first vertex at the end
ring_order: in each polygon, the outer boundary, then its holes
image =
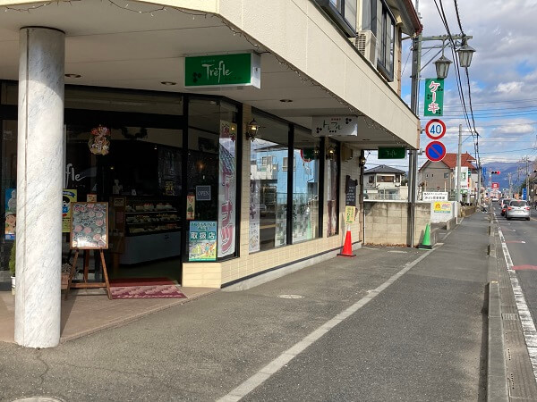
MULTIPOLYGON (((477 193, 477 167, 473 165, 475 158, 465 152, 461 154, 461 167, 467 167, 470 175, 468 187, 470 196, 477 193)), ((452 199, 456 197, 456 154, 447 153, 439 162, 427 161, 418 171, 418 183, 421 191, 447 191, 452 199)), ((463 194, 467 200, 467 194, 463 194)))

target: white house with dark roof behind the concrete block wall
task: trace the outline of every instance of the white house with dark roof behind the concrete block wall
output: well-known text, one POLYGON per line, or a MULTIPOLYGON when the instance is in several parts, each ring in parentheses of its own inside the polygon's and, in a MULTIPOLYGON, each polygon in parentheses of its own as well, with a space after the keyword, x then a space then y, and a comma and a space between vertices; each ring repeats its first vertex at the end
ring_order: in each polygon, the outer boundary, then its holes
POLYGON ((408 187, 401 186, 406 173, 386 164, 363 172, 365 199, 407 199, 408 187))

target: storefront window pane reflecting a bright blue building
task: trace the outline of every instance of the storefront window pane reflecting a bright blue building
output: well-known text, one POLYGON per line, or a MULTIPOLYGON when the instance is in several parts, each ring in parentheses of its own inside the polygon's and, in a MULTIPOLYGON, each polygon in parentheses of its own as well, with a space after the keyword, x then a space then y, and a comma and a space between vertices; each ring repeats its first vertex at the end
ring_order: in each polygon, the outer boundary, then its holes
POLYGON ((320 140, 294 131, 293 243, 319 237, 320 140))

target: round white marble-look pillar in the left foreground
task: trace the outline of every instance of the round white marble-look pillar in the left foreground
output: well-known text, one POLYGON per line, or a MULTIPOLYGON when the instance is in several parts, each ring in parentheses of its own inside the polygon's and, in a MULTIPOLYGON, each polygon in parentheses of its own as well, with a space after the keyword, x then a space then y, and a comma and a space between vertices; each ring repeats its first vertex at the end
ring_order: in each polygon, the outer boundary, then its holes
POLYGON ((22 28, 19 37, 15 342, 60 341, 65 34, 22 28))

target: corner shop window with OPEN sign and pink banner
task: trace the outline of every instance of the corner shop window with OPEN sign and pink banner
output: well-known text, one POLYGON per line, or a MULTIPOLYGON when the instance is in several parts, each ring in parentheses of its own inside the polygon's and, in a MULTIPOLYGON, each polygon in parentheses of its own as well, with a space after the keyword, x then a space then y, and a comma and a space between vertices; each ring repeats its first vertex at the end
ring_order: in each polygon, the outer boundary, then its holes
POLYGON ((186 215, 217 222, 217 258, 236 254, 237 119, 238 108, 224 101, 189 102, 186 215))

